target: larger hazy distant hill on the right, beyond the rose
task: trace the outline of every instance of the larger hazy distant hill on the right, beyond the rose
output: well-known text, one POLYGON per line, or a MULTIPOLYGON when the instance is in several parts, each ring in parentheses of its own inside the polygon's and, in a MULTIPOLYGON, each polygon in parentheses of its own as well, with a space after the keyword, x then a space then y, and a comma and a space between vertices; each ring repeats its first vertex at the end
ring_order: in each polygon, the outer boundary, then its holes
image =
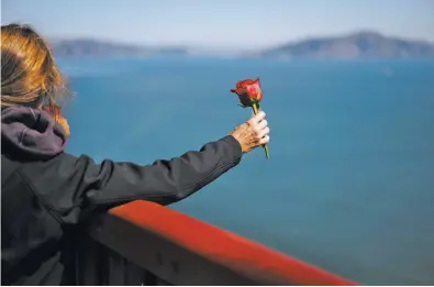
POLYGON ((427 58, 434 44, 388 37, 376 32, 316 37, 288 43, 255 53, 256 57, 277 58, 427 58))

